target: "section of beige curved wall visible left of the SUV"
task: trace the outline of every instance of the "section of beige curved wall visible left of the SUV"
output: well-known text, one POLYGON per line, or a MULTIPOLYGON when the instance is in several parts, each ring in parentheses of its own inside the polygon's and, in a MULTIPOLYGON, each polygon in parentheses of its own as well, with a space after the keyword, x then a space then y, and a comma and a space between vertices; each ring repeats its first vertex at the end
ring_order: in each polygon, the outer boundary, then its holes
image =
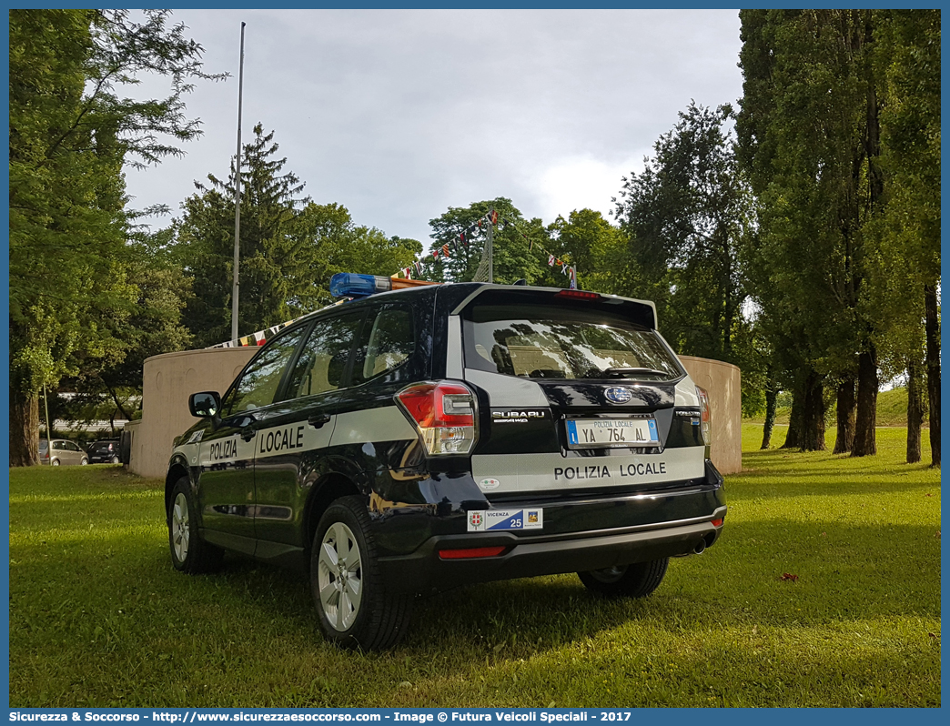
POLYGON ((198 421, 188 411, 188 396, 199 391, 224 393, 257 348, 211 348, 164 353, 145 359, 142 370, 142 420, 132 427, 129 471, 164 477, 172 441, 198 421))

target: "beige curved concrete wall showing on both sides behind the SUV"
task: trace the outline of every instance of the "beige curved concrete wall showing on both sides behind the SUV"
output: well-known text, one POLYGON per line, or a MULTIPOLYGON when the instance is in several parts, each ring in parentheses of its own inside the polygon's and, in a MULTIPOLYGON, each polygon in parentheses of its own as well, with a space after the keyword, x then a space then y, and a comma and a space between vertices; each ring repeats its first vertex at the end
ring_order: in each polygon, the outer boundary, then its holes
MULTIPOLYGON (((172 441, 195 423, 188 396, 199 391, 223 393, 257 348, 213 348, 165 353, 145 360, 142 372, 142 420, 125 425, 132 433, 129 470, 164 477, 172 441)), ((742 406, 739 369, 729 363, 680 356, 697 386, 710 394, 712 463, 724 474, 742 469, 742 406)))

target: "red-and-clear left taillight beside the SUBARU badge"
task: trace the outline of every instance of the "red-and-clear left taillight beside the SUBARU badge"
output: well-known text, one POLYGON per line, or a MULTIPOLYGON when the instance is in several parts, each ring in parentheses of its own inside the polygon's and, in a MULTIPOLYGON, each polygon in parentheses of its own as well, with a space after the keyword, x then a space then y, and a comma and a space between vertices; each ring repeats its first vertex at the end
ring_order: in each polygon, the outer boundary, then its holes
POLYGON ((396 393, 429 456, 466 454, 475 446, 475 394, 461 383, 417 383, 396 393))

